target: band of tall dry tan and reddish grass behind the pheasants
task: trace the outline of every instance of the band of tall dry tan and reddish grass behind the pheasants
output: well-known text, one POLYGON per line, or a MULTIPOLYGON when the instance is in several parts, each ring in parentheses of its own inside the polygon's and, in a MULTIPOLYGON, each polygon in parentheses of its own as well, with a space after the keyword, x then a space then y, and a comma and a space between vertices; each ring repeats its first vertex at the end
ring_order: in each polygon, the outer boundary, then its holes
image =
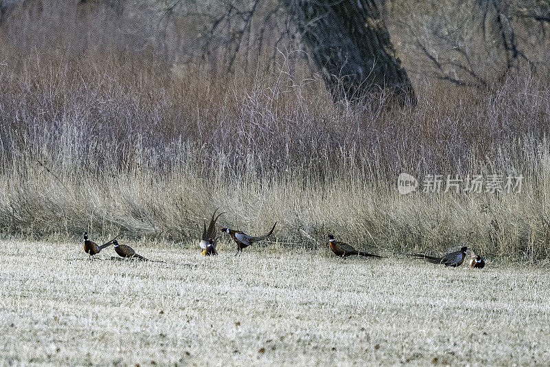
MULTIPOLYGON (((397 253, 459 242, 489 256, 550 255, 550 92, 518 74, 483 90, 417 88, 333 104, 285 65, 217 78, 98 49, 0 48, 0 224, 41 237, 122 231, 197 238, 222 223, 257 233, 278 221, 288 246, 333 231, 397 253), (397 176, 522 174, 521 193, 400 196, 397 176)), ((384 251, 385 250, 385 251, 384 251)))

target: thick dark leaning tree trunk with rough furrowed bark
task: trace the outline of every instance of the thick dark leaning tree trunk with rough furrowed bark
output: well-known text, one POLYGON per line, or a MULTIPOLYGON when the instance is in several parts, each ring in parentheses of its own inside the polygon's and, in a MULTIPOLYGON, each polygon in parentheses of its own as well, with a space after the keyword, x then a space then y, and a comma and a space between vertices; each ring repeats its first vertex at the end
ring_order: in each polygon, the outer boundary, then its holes
POLYGON ((415 104, 375 0, 283 0, 335 100, 393 90, 415 104))

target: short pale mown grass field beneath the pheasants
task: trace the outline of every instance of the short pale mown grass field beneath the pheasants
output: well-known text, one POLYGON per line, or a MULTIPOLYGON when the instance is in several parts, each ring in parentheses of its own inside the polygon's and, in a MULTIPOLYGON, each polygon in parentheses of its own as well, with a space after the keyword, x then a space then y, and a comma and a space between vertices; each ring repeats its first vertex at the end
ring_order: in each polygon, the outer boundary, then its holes
POLYGON ((165 263, 0 242, 0 364, 550 363, 547 266, 131 245, 165 263))

